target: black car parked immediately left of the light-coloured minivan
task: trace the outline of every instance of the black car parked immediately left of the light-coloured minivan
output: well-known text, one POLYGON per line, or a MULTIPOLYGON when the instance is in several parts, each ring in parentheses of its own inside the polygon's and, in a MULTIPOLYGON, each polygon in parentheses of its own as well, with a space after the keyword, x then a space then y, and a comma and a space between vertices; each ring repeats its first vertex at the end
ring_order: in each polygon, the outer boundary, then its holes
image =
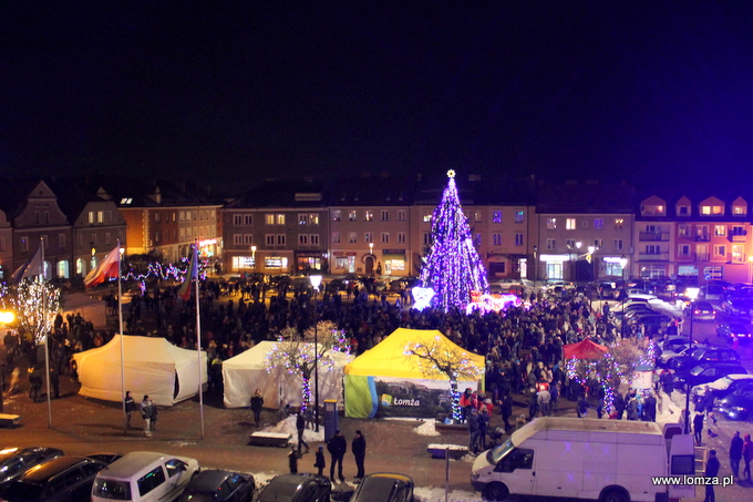
POLYGON ((6 502, 81 502, 89 500, 96 474, 107 464, 86 457, 62 455, 35 465, 11 482, 6 502))

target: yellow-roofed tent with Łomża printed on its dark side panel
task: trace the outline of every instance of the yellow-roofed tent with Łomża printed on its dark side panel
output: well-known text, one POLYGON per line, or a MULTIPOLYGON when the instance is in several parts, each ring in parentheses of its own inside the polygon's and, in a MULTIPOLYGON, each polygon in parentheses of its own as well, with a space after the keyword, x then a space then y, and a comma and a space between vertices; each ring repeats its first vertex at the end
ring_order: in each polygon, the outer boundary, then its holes
POLYGON ((476 390, 483 383, 484 356, 463 349, 437 330, 399 328, 345 366, 347 417, 434 417, 447 411, 450 379, 422 371, 422 361, 405 354, 411 342, 427 347, 441 344, 444 350, 470 362, 479 376, 461 377, 458 380, 466 382, 461 390, 476 390))

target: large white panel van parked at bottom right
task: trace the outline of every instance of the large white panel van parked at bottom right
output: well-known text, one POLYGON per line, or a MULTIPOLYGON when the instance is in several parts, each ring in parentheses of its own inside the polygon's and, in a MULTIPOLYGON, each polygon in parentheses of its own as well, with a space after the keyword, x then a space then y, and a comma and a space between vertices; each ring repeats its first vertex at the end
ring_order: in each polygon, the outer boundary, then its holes
MULTIPOLYGON (((694 454, 692 438, 689 451, 672 451, 680 453, 694 454)), ((478 455, 471 483, 486 500, 519 494, 654 502, 668 489, 651 477, 668 475, 668 465, 656 422, 546 417, 478 455)))

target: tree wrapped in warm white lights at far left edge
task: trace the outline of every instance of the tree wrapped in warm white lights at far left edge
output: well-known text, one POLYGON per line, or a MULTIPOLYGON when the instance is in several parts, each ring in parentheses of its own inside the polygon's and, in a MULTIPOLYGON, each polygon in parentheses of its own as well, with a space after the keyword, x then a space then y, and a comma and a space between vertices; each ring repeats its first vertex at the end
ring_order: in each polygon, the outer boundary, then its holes
POLYGON ((24 279, 10 301, 19 327, 31 334, 37 344, 44 342, 60 308, 60 289, 40 279, 24 279))

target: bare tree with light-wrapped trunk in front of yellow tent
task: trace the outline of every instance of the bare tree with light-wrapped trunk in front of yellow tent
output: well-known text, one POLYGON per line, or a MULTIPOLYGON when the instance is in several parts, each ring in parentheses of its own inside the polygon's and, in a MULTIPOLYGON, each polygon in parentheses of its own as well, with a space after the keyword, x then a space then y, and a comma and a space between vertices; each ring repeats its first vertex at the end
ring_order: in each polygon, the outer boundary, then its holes
POLYGON ((417 365, 419 371, 424 377, 431 379, 445 377, 450 380, 452 418, 455 421, 462 420, 461 393, 457 390, 457 381, 461 378, 476 379, 484 372, 484 368, 478 368, 471 360, 468 352, 443 344, 439 337, 429 344, 411 341, 405 346, 404 354, 411 363, 417 365))

